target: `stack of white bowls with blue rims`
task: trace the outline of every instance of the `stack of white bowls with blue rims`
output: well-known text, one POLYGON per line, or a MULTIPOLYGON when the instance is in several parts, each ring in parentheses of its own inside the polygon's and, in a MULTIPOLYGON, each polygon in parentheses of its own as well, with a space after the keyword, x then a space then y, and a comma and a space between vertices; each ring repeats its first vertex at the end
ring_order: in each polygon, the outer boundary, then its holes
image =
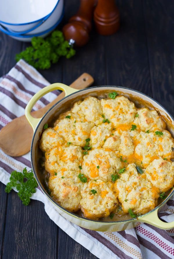
POLYGON ((64 0, 0 1, 0 30, 10 37, 29 42, 45 37, 61 22, 64 0))

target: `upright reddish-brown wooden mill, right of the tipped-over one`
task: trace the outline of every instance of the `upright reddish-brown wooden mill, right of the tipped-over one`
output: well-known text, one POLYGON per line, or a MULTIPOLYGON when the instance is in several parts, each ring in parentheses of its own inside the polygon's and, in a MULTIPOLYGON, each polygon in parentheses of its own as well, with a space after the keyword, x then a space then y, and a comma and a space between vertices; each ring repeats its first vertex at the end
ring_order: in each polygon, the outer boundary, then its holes
POLYGON ((114 0, 98 0, 94 11, 97 32, 102 35, 116 33, 120 26, 119 10, 114 0))

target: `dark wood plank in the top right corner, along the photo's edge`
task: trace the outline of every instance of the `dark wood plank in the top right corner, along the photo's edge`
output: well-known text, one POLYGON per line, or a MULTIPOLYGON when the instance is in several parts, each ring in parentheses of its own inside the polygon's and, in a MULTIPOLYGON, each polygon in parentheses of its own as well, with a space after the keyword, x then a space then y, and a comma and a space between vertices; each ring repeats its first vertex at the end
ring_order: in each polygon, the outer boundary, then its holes
POLYGON ((143 1, 153 98, 174 114, 174 5, 143 1))

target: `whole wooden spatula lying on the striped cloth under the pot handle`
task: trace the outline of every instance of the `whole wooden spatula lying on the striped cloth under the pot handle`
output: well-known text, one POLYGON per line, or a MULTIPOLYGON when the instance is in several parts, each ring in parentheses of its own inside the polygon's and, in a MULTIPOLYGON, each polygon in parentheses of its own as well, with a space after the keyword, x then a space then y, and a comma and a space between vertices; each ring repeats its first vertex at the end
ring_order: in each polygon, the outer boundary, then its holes
MULTIPOLYGON (((88 73, 83 73, 77 78, 70 87, 75 89, 84 89, 93 84, 94 79, 88 73)), ((62 92, 59 96, 44 108, 38 111, 33 111, 32 116, 35 118, 41 118, 52 105, 64 98, 65 93, 62 92)), ((11 157, 19 157, 30 151, 31 141, 33 136, 33 130, 28 123, 25 115, 15 118, 0 132, 0 148, 11 157)))

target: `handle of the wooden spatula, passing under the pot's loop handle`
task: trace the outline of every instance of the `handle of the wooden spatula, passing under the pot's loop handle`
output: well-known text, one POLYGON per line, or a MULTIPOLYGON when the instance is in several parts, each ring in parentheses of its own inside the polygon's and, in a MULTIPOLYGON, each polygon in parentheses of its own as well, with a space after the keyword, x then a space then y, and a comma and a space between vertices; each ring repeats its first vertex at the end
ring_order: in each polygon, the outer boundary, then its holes
MULTIPOLYGON (((89 75, 88 73, 83 73, 72 84, 70 84, 70 87, 80 90, 80 89, 84 89, 84 88, 90 86, 93 82, 94 82, 94 79, 91 75, 89 75)), ((64 98, 64 96, 65 96, 64 92, 60 93, 59 96, 57 96, 57 98, 55 100, 48 103, 45 107, 43 107, 37 111, 33 111, 31 113, 32 116, 34 118, 42 117, 56 102, 58 102, 59 100, 64 98)))

